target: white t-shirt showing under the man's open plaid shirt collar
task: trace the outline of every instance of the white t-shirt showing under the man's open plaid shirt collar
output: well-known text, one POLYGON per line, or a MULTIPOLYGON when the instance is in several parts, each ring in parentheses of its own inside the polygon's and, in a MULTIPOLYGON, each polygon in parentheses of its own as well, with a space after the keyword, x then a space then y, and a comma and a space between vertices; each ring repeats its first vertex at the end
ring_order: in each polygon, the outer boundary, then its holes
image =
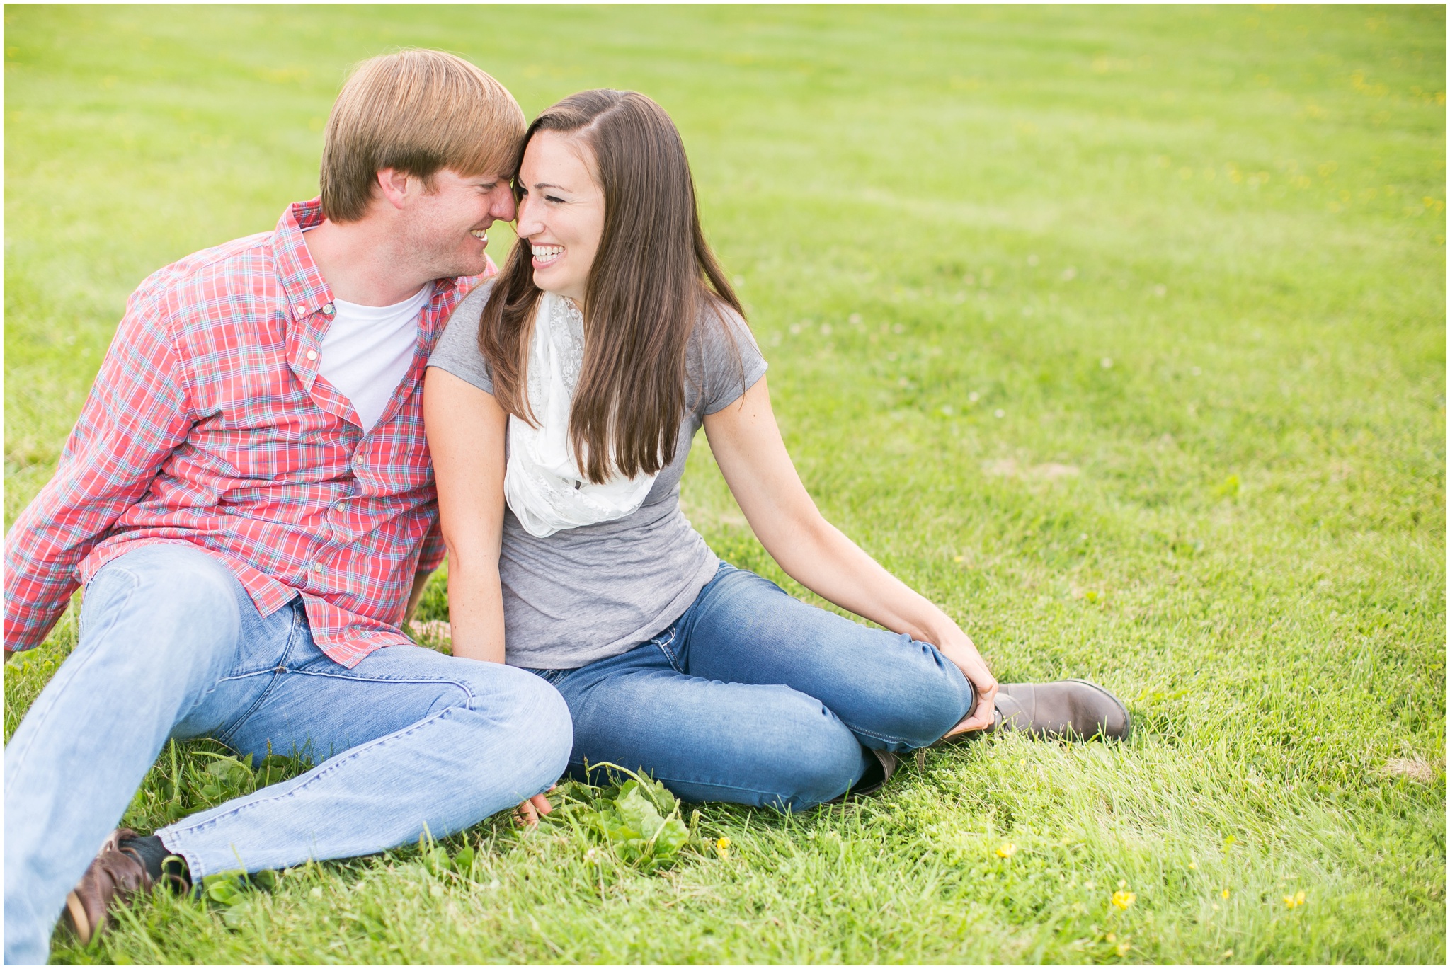
POLYGON ((364 434, 383 416, 383 408, 413 364, 418 315, 432 296, 434 284, 429 283, 392 306, 332 300, 336 313, 322 338, 318 373, 352 402, 364 434))

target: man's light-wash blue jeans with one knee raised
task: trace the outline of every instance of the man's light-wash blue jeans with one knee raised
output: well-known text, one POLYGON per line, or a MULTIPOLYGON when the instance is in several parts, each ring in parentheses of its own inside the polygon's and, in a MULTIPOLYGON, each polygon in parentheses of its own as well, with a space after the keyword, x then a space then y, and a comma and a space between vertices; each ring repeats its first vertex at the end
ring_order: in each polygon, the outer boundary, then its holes
POLYGON ((407 646, 347 669, 299 599, 262 617, 216 558, 145 545, 90 582, 75 651, 6 746, 4 960, 45 962, 65 894, 168 738, 318 764, 158 831, 200 881, 463 830, 548 788, 570 735, 536 676, 407 646))

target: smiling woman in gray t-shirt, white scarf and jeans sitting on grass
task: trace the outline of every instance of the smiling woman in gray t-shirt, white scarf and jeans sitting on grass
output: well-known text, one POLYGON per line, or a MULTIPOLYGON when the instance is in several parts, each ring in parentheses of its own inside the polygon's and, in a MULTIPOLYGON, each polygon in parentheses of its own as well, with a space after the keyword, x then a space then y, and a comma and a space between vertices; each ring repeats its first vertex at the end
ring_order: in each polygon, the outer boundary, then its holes
POLYGON ((454 654, 554 683, 574 773, 612 762, 686 799, 800 811, 993 724, 1127 733, 1080 680, 999 693, 957 624, 816 511, 658 104, 567 97, 518 173, 519 241, 439 341, 425 416, 454 654), (710 553, 677 503, 702 424, 780 567, 884 630, 710 553))

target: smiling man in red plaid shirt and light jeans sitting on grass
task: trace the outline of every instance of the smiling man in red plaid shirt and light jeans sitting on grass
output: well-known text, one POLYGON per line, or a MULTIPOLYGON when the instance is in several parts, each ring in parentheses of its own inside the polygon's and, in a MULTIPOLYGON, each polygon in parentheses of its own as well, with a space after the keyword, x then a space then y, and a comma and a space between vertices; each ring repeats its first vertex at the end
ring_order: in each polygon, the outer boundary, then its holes
POLYGON ((442 836, 539 804, 564 770, 551 686, 399 631, 442 557, 423 366, 496 271, 486 231, 513 219, 523 129, 460 58, 367 61, 328 120, 320 200, 132 296, 6 547, 7 659, 86 585, 80 643, 4 751, 7 963, 45 962, 62 910, 88 940, 154 882, 442 836), (318 766, 112 831, 186 737, 318 766))

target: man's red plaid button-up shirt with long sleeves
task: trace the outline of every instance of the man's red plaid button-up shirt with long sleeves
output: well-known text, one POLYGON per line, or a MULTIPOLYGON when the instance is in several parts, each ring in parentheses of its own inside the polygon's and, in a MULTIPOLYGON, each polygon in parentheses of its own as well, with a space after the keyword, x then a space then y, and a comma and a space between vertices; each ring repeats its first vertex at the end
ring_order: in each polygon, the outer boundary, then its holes
POLYGON ((167 541, 222 560, 262 615, 300 593, 344 666, 409 643, 413 576, 444 556, 423 368, 477 280, 435 283, 413 367, 364 434, 318 374, 332 292, 302 231, 320 222, 299 202, 132 294, 55 477, 10 529, 6 648, 38 646, 107 561, 167 541))

